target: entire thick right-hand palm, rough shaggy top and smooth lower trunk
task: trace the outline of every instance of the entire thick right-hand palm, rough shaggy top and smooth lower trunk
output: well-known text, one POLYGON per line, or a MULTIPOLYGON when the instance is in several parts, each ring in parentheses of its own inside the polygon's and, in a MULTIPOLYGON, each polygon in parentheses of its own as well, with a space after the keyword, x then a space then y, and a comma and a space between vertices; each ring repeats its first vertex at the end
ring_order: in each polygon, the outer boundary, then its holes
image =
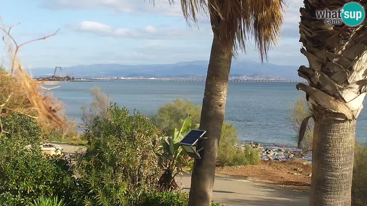
MULTIPOLYGON (((299 23, 301 53, 309 67, 297 84, 313 104, 310 206, 350 206, 356 119, 367 94, 367 23, 327 24, 316 11, 341 9, 351 0, 305 0, 299 23)), ((357 0, 365 5, 366 0, 357 0)))

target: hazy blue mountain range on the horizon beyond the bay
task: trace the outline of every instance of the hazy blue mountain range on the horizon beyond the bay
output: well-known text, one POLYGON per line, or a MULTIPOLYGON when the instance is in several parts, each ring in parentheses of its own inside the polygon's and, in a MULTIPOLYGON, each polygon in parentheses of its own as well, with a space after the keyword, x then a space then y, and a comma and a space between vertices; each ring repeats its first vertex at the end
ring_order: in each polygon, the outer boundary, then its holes
MULTIPOLYGON (((55 65, 57 66, 57 65, 55 65)), ((144 77, 144 76, 177 76, 177 75, 206 75, 208 61, 178 62, 162 65, 120 65, 94 64, 77 65, 58 69, 57 75, 75 77, 144 77)), ((298 66, 281 66, 272 63, 253 61, 232 61, 231 74, 267 74, 281 77, 298 78, 298 66)), ((36 68, 30 71, 33 77, 45 77, 54 73, 54 68, 36 68)))

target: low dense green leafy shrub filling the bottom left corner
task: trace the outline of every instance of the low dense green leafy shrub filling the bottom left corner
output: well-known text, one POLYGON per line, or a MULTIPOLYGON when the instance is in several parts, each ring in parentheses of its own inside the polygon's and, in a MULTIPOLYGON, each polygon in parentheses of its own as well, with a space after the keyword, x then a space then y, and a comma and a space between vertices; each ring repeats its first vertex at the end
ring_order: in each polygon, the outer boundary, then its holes
MULTIPOLYGON (((39 144, 24 149, 19 139, 0 139, 0 205, 26 206, 32 199, 54 195, 74 202, 76 180, 63 155, 45 155, 39 144)), ((70 204, 71 206, 72 204, 70 204)))

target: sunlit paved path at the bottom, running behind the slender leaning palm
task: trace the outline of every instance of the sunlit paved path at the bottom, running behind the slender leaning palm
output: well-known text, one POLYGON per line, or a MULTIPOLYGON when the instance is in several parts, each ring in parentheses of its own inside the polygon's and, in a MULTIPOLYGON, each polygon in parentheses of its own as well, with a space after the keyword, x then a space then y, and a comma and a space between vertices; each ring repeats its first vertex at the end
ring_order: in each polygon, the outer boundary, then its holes
MULTIPOLYGON (((185 191, 190 189, 191 176, 176 179, 185 191)), ((214 202, 228 206, 308 206, 308 194, 281 190, 250 180, 232 179, 230 176, 215 177, 214 202)))

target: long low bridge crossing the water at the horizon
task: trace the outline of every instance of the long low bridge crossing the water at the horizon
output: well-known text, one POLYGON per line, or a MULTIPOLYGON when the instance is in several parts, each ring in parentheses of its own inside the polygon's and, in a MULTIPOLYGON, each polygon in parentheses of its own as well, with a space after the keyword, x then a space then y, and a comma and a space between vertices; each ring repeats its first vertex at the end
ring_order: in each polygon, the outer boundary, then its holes
MULTIPOLYGON (((115 79, 115 78, 74 78, 75 82, 88 81, 206 81, 204 79, 115 79)), ((230 82, 307 82, 306 80, 228 80, 230 82)))

